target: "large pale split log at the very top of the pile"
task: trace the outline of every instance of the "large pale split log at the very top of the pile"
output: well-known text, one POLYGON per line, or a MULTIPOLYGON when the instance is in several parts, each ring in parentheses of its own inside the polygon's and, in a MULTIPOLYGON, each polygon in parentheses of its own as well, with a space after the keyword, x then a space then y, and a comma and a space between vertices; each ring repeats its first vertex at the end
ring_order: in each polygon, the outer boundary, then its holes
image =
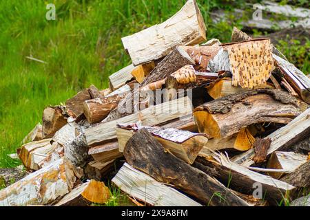
POLYGON ((122 42, 132 58, 132 63, 137 66, 162 58, 177 45, 202 43, 207 39, 205 30, 196 1, 189 0, 167 21, 125 36, 122 42))

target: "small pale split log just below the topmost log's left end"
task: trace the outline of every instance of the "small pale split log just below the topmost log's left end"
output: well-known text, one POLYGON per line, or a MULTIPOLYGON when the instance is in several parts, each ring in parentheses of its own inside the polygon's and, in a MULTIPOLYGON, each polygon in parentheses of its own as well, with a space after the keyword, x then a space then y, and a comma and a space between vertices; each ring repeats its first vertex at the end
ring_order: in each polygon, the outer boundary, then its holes
POLYGON ((131 64, 109 76, 109 85, 111 91, 115 91, 116 89, 125 85, 128 81, 132 80, 132 70, 134 70, 134 65, 131 64))

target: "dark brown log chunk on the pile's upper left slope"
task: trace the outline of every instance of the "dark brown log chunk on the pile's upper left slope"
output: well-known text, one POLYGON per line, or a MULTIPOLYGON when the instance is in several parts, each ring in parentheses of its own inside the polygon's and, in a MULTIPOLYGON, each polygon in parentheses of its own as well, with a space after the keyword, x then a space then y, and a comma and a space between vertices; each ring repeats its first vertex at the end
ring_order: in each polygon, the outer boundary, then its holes
POLYGON ((72 118, 77 118, 83 113, 83 102, 89 100, 92 97, 87 89, 79 91, 78 94, 65 101, 65 107, 68 111, 68 115, 72 118))

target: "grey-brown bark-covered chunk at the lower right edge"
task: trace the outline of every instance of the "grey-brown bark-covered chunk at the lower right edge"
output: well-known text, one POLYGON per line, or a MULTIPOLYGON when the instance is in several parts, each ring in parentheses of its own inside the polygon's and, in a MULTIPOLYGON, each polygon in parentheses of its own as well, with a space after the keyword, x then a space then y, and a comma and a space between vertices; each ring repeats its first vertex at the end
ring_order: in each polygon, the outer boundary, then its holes
POLYGON ((301 188, 302 191, 304 190, 308 194, 310 192, 310 161, 302 164, 292 173, 288 173, 282 177, 281 181, 301 188))

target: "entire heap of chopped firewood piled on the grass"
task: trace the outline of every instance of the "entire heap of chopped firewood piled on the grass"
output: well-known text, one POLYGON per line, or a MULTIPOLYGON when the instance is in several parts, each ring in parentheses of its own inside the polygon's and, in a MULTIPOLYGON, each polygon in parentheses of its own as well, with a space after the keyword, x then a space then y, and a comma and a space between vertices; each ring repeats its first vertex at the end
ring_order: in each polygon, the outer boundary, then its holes
POLYGON ((0 206, 104 204, 107 183, 138 205, 309 205, 310 79, 269 39, 205 32, 189 0, 124 37, 132 65, 44 109, 0 206))

